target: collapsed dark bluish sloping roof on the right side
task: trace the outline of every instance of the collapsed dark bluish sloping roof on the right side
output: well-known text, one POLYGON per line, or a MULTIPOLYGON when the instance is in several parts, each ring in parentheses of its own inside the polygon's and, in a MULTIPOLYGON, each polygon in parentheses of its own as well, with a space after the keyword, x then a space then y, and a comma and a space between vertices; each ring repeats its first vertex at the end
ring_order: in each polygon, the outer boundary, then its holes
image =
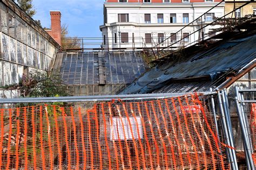
POLYGON ((241 73, 249 63, 255 64, 255 32, 242 34, 211 48, 185 51, 185 58, 181 55, 162 61, 121 94, 207 91, 218 87, 227 77, 241 73))

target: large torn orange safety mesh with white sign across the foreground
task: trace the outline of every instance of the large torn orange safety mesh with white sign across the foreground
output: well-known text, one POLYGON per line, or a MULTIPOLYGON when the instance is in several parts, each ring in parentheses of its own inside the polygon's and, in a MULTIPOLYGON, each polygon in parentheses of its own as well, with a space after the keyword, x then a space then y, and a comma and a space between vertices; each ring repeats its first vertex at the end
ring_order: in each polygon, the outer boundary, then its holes
POLYGON ((0 109, 0 168, 228 169, 198 97, 0 109))

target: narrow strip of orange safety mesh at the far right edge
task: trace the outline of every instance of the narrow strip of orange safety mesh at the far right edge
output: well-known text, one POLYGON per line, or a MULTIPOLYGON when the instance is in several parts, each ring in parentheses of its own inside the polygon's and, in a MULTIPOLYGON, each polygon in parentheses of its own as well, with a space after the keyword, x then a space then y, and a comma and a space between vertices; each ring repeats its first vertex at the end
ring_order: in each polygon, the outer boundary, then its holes
MULTIPOLYGON (((252 143, 253 143, 253 151, 256 150, 256 103, 252 103, 251 109, 251 133, 252 133, 252 143)), ((256 154, 253 153, 253 161, 256 165, 256 154)))

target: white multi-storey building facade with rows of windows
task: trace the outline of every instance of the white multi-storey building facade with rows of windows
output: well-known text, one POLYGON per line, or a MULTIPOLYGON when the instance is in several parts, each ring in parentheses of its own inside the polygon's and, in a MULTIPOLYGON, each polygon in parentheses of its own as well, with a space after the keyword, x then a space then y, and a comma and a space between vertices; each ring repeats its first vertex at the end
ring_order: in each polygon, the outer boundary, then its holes
MULTIPOLYGON (((117 1, 104 3, 104 25, 100 26, 103 48, 150 48, 171 36, 160 45, 169 46, 182 37, 199 30, 202 26, 211 23, 213 17, 224 16, 225 6, 224 3, 219 4, 196 22, 185 27, 219 2, 187 2, 185 0, 186 2, 172 3, 163 0, 163 3, 138 3, 117 1), (185 29, 176 34, 183 27, 185 29)), ((207 26, 203 29, 203 34, 206 35, 210 28, 211 26, 207 26)), ((202 32, 196 32, 185 38, 183 43, 192 45, 194 41, 202 37, 202 32)))

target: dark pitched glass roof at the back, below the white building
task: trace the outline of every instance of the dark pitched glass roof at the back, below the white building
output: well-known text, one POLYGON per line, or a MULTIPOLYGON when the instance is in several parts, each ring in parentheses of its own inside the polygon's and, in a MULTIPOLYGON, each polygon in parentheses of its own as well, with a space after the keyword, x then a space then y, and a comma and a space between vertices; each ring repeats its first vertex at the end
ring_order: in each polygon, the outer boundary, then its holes
POLYGON ((130 84, 148 68, 140 52, 64 53, 60 74, 69 85, 130 84))

